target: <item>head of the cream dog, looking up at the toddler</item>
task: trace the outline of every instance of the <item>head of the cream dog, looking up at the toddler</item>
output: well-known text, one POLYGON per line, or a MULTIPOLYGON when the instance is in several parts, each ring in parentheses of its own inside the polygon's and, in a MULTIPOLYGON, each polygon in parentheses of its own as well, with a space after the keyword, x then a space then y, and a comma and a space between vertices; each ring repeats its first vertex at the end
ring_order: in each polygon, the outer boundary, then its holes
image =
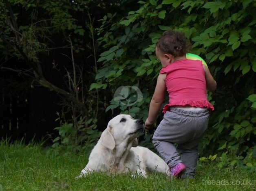
MULTIPOLYGON (((101 143, 106 148, 113 150, 116 145, 131 141, 136 142, 144 130, 142 119, 133 119, 130 115, 117 115, 108 122, 107 128, 102 132, 101 143)), ((136 144, 136 143, 135 143, 136 144)))

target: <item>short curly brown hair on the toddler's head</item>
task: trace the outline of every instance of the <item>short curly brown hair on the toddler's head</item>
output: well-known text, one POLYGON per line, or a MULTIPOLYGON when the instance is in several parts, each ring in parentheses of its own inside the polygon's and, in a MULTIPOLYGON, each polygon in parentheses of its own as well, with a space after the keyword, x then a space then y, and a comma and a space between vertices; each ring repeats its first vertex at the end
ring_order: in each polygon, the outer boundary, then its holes
POLYGON ((159 48, 161 52, 171 54, 174 57, 184 56, 190 48, 190 43, 184 33, 167 30, 158 40, 157 48, 159 48))

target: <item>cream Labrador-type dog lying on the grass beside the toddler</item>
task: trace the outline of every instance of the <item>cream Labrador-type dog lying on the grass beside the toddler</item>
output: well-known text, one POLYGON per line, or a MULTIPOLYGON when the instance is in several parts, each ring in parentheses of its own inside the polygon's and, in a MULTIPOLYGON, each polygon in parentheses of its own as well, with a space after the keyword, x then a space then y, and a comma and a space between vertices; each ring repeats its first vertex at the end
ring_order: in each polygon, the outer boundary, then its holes
POLYGON ((167 164, 157 154, 145 147, 132 147, 143 130, 142 119, 133 119, 130 115, 117 115, 111 119, 77 178, 92 171, 130 172, 146 177, 146 170, 150 170, 169 175, 167 164))

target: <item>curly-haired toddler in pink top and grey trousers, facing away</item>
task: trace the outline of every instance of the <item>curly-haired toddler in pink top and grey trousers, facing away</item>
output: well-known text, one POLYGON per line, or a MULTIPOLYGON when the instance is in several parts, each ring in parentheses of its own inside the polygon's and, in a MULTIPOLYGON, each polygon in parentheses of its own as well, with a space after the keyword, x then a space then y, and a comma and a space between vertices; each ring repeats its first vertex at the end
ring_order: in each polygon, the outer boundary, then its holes
POLYGON ((166 31, 157 42, 155 53, 162 69, 145 126, 150 128, 156 122, 167 90, 169 104, 163 107, 163 120, 154 132, 153 144, 171 176, 194 178, 198 143, 207 129, 209 110, 214 110, 206 89, 214 91, 216 82, 202 61, 186 59, 187 52, 188 41, 181 32, 166 31), (174 143, 178 143, 177 148, 174 143))

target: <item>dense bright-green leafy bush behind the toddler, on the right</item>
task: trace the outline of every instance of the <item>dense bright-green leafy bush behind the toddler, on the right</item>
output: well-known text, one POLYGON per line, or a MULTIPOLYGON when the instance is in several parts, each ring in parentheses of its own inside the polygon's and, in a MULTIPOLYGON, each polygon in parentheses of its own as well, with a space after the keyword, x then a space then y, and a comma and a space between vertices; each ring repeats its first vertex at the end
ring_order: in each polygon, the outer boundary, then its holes
POLYGON ((113 99, 108 109, 146 119, 161 68, 154 54, 155 43, 164 30, 180 30, 191 41, 190 52, 206 60, 218 84, 216 92, 208 94, 215 111, 200 151, 207 156, 235 153, 246 159, 245 164, 256 165, 254 10, 252 0, 150 0, 139 1, 138 9, 125 17, 105 16, 97 30, 106 51, 98 60, 102 67, 91 89, 114 93, 119 86, 139 87, 141 102, 125 106, 113 99), (103 30, 109 24, 108 30, 103 30))

